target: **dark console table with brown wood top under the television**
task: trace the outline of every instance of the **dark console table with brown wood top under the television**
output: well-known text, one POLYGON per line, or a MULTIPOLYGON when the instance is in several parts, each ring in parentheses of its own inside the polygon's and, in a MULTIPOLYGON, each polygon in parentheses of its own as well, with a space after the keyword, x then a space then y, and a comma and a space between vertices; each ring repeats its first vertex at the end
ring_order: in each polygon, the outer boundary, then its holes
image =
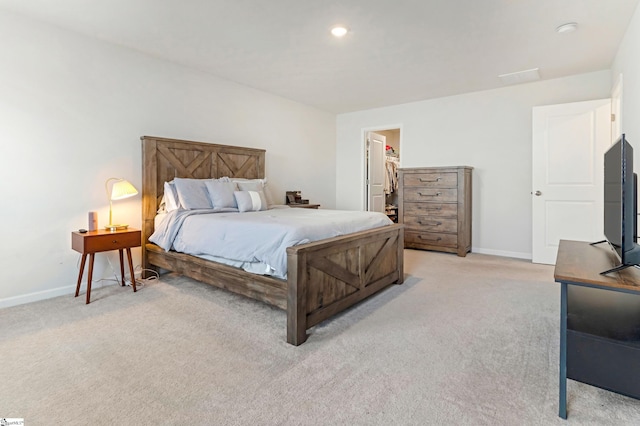
POLYGON ((555 280, 560 308, 559 416, 567 379, 640 399, 640 270, 600 272, 618 260, 608 244, 561 240, 555 280))

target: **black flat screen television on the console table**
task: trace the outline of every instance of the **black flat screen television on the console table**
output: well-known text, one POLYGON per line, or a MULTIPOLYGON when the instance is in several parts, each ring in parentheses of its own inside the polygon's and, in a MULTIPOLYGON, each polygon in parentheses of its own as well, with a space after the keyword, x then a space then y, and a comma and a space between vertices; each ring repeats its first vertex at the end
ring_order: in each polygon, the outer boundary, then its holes
POLYGON ((620 264, 601 274, 640 264, 637 205, 633 148, 623 134, 604 154, 604 236, 620 264))

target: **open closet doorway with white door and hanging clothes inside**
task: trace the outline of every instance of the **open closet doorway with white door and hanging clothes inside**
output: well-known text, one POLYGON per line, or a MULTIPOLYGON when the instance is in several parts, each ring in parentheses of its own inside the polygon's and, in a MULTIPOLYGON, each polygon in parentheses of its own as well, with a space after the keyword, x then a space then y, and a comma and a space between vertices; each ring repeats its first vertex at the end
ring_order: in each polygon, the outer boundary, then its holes
POLYGON ((398 221, 400 128, 365 131, 365 208, 398 221))

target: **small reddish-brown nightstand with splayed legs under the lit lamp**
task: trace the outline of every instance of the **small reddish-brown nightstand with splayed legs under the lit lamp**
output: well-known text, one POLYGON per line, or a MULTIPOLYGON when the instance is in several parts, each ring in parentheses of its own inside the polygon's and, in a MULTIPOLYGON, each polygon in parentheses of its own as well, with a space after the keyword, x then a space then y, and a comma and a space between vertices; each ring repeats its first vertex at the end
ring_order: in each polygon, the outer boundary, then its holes
POLYGON ((136 280, 133 275, 133 263, 131 261, 131 248, 140 247, 141 233, 138 229, 123 229, 120 231, 107 231, 100 229, 97 231, 88 231, 80 233, 74 231, 71 233, 71 248, 82 253, 82 261, 80 263, 80 273, 78 274, 78 284, 76 285, 76 296, 80 292, 80 284, 82 283, 82 274, 84 273, 84 264, 89 255, 89 275, 87 276, 87 304, 91 298, 91 279, 93 275, 93 259, 96 253, 102 251, 118 250, 120 253, 120 275, 122 276, 122 285, 124 281, 124 263, 122 250, 127 250, 127 259, 129 260, 129 274, 131 275, 131 286, 136 291, 136 280))

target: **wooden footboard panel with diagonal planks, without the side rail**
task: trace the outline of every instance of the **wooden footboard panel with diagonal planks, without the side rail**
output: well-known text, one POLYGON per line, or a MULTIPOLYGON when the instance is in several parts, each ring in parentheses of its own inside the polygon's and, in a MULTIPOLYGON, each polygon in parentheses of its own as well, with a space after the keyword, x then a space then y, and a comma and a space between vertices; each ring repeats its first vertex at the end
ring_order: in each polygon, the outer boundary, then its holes
POLYGON ((287 342, 404 280, 404 229, 391 225, 287 249, 287 342))

